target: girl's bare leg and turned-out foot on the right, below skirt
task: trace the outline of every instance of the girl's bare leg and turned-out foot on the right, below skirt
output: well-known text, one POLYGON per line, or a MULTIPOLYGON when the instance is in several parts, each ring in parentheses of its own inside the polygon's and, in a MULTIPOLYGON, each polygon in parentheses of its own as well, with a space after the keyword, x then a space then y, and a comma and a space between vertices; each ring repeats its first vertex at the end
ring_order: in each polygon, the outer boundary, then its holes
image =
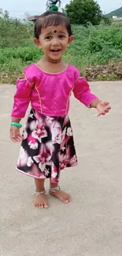
MULTIPOLYGON (((50 188, 55 188, 57 187, 58 184, 51 183, 50 182, 50 188)), ((65 191, 61 190, 56 190, 56 191, 50 191, 50 195, 54 195, 56 198, 58 198, 60 201, 68 203, 71 201, 71 196, 65 193, 65 191)))

